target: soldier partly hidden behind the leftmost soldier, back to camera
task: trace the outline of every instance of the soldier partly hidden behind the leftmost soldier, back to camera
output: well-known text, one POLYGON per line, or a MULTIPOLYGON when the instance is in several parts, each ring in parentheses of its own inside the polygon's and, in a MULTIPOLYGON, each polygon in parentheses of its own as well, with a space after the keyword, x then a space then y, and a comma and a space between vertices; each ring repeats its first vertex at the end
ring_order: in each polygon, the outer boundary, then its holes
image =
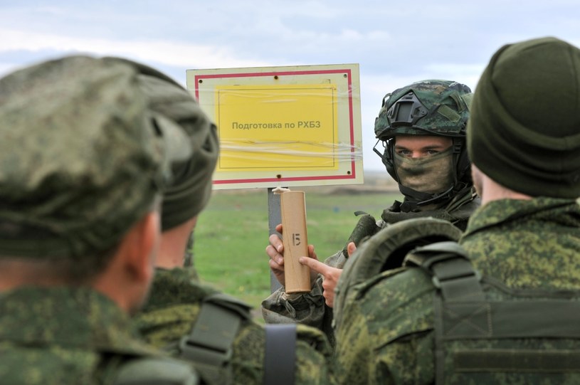
POLYGON ((153 73, 141 80, 152 110, 183 127, 193 152, 174 165, 164 192, 157 273, 135 325, 149 344, 192 362, 206 384, 332 383, 330 349, 319 330, 265 329, 252 321, 248 305, 202 285, 193 267, 184 268, 188 239, 211 195, 216 127, 174 81, 153 73), (288 339, 275 342, 280 335, 288 339))

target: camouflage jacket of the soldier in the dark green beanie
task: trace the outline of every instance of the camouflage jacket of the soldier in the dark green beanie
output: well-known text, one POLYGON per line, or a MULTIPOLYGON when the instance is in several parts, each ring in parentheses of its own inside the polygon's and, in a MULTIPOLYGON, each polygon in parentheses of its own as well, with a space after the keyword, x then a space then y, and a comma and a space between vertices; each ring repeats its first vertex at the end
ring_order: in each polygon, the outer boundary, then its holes
MULTIPOLYGON (((504 292, 580 290, 579 226, 572 200, 492 201, 470 218, 460 244, 484 280, 507 285, 504 292)), ((386 270, 354 290, 357 301, 337 315, 339 382, 433 384, 431 276, 419 268, 386 270)))

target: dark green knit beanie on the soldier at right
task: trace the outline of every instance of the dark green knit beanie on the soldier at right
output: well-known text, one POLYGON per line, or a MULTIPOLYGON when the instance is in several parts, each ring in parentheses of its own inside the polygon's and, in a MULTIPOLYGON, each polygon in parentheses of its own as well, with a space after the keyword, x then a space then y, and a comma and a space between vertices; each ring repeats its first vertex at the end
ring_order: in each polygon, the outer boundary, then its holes
POLYGON ((529 196, 580 196, 580 49, 557 38, 500 48, 473 96, 471 160, 529 196))

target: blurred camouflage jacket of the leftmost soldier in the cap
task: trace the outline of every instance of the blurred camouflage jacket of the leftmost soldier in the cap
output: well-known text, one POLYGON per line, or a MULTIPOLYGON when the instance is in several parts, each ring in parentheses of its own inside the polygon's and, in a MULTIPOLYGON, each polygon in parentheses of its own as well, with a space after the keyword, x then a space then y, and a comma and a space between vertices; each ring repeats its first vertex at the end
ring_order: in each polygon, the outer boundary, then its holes
POLYGON ((125 370, 139 357, 149 359, 146 366, 169 364, 170 376, 179 370, 191 373, 189 365, 162 358, 140 342, 129 317, 89 288, 26 287, 2 293, 0 357, 3 385, 119 384, 121 378, 131 379, 125 370))

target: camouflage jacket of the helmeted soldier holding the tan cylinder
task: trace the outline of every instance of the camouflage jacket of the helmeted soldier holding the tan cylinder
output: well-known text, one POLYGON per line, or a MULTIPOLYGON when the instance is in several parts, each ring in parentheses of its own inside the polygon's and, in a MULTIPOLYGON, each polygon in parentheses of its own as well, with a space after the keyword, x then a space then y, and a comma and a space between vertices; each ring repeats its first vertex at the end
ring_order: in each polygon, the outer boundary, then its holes
MULTIPOLYGON (((480 198, 475 196, 472 189, 468 189, 463 194, 455 196, 445 207, 431 211, 418 211, 404 213, 400 210, 401 203, 395 201, 393 206, 385 209, 381 214, 381 220, 376 221, 374 228, 361 226, 362 221, 354 228, 349 242, 354 241, 358 245, 359 241, 389 225, 411 218, 421 218, 432 216, 433 218, 450 221, 461 230, 465 230, 469 216, 480 206, 480 198)), ((325 260, 325 263, 333 268, 343 268, 348 258, 346 246, 343 250, 337 251, 325 260)), ((334 347, 336 344, 334 330, 332 329, 332 308, 325 304, 322 296, 322 275, 319 275, 312 290, 301 295, 286 295, 284 288, 273 292, 262 302, 262 315, 267 323, 288 323, 299 322, 303 325, 316 327, 324 332, 334 347)))

